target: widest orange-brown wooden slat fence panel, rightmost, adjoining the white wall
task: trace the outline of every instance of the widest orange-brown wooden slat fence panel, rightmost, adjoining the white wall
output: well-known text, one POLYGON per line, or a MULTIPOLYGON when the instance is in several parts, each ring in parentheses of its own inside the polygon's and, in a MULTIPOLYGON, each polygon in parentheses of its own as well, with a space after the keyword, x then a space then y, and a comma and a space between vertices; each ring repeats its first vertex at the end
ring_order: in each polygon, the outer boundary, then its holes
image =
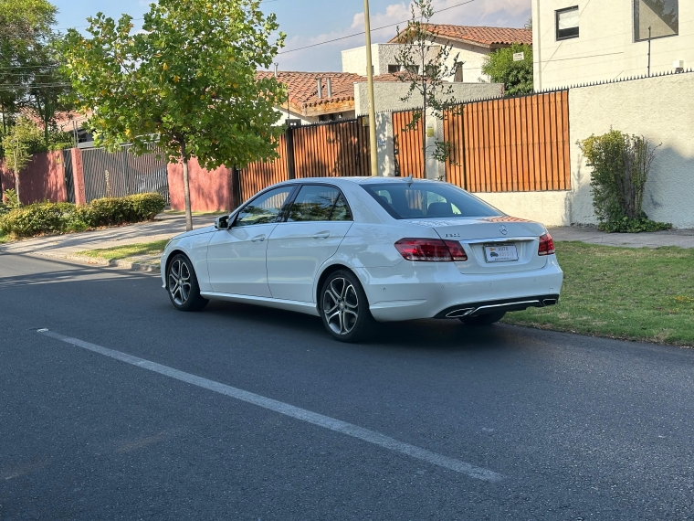
POLYGON ((448 112, 448 182, 470 192, 570 189, 568 96, 562 90, 479 101, 448 112))

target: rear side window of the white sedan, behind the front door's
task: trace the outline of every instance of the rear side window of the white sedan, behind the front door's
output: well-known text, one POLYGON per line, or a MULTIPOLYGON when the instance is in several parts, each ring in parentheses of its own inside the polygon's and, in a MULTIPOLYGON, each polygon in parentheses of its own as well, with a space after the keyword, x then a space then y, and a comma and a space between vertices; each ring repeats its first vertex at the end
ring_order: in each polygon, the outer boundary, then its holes
POLYGON ((340 190, 332 186, 305 185, 289 208, 289 222, 352 220, 340 190))

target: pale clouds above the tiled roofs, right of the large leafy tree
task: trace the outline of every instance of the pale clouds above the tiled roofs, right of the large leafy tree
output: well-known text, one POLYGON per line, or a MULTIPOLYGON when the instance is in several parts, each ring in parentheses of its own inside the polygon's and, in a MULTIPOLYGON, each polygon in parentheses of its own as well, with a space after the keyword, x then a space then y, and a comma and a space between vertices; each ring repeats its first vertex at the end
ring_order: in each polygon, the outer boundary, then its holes
MULTIPOLYGON (((432 18, 433 23, 467 26, 522 27, 531 16, 531 0, 473 0, 459 5, 464 0, 434 0, 436 11, 445 11, 432 18)), ((372 39, 374 43, 388 41, 396 34, 396 25, 401 28, 411 17, 410 5, 405 2, 387 5, 383 11, 371 13, 372 39), (386 27, 392 26, 392 27, 386 27), (379 27, 386 27, 379 29, 379 27)), ((287 38, 288 51, 307 46, 295 52, 278 56, 282 70, 342 70, 340 51, 364 45, 363 35, 350 37, 364 29, 363 11, 354 13, 352 22, 339 31, 314 36, 296 35, 287 38), (343 38, 339 41, 329 40, 343 38), (321 44, 321 45, 316 45, 321 44)))

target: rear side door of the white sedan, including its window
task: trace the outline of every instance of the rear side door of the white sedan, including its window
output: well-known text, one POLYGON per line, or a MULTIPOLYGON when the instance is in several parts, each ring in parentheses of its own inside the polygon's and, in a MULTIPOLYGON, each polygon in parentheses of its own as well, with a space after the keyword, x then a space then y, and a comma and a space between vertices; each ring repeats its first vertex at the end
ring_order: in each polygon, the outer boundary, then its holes
POLYGON ((286 222, 268 242, 268 284, 273 298, 315 302, 313 282, 352 227, 352 212, 336 186, 306 184, 289 206, 286 222))

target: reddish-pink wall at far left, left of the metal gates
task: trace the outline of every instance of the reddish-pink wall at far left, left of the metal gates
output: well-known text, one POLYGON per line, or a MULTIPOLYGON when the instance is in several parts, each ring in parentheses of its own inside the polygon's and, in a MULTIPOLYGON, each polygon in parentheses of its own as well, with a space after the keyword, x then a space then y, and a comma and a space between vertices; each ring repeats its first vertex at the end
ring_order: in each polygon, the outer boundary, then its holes
MULTIPOLYGON (((15 175, 0 165, 3 191, 15 189, 15 175)), ((43 152, 36 154, 24 170, 19 173, 19 198, 25 205, 42 201, 65 202, 68 191, 65 186, 63 153, 43 152)))

